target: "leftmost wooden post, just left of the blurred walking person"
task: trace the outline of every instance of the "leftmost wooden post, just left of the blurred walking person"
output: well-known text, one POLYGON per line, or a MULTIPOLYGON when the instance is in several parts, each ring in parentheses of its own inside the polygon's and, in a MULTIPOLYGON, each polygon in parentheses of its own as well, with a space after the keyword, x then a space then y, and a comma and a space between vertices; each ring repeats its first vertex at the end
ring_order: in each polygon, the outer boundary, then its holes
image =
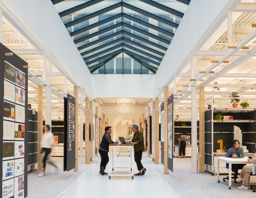
POLYGON ((40 142, 43 136, 43 86, 37 87, 37 172, 42 172, 43 154, 40 154, 40 142))

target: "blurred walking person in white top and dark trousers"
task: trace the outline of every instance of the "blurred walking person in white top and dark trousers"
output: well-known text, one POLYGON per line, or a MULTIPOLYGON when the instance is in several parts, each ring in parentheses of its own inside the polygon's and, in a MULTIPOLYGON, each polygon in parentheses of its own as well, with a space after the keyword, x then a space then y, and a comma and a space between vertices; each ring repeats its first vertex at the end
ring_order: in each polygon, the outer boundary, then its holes
MULTIPOLYGON (((47 156, 52 152, 52 145, 54 144, 53 134, 52 132, 50 132, 50 126, 45 125, 44 131, 45 133, 43 134, 43 137, 40 142, 40 147, 41 147, 40 153, 45 152, 44 159, 43 159, 43 171, 38 175, 38 177, 45 176, 45 165, 46 165, 47 156)), ((54 165, 52 162, 48 162, 48 163, 52 164, 56 168, 55 173, 58 173, 59 167, 54 165)))

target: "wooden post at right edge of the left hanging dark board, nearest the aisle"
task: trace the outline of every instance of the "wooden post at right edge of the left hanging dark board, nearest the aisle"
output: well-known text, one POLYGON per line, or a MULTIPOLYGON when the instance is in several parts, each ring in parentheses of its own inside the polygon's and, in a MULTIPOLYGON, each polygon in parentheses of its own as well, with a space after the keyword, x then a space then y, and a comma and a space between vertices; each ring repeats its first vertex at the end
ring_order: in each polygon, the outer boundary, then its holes
POLYGON ((74 98, 76 98, 76 123, 75 123, 75 145, 76 145, 76 150, 75 150, 75 168, 73 169, 73 172, 78 172, 78 87, 74 86, 74 98))

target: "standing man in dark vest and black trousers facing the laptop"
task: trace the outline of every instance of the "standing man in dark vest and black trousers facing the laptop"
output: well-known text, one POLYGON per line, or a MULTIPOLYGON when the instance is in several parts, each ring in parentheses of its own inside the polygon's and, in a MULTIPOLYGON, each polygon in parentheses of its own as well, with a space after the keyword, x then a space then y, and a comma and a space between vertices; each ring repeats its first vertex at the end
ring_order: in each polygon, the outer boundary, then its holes
POLYGON ((111 134, 112 130, 111 130, 111 126, 107 126, 105 128, 105 133, 101 139, 100 142, 100 148, 99 148, 99 153, 100 153, 100 157, 101 157, 101 161, 100 161, 100 173, 101 175, 107 175, 108 173, 104 172, 106 169, 106 166, 108 164, 108 152, 109 152, 109 144, 117 144, 118 141, 112 141, 111 140, 111 134))

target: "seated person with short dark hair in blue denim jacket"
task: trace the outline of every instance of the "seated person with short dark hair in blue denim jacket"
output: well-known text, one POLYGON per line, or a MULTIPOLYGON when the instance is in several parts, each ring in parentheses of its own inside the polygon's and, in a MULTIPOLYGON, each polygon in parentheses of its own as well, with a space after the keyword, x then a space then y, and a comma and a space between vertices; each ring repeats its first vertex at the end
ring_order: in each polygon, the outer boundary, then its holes
MULTIPOLYGON (((233 141, 233 147, 228 149, 225 157, 244 157, 244 149, 240 147, 240 142, 238 140, 233 141)), ((245 164, 232 164, 232 169, 234 169, 234 179, 237 179, 238 170, 242 169, 245 164)), ((229 164, 226 163, 226 168, 229 169, 229 164)))

